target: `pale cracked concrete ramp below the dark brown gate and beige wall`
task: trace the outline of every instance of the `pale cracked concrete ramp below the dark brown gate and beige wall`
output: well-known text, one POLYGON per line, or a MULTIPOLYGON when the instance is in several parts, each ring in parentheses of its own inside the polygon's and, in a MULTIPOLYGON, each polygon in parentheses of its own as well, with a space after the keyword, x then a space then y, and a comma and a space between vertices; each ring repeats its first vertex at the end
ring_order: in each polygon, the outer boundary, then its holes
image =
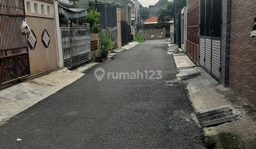
POLYGON ((64 68, 0 90, 0 125, 82 76, 83 73, 64 68))

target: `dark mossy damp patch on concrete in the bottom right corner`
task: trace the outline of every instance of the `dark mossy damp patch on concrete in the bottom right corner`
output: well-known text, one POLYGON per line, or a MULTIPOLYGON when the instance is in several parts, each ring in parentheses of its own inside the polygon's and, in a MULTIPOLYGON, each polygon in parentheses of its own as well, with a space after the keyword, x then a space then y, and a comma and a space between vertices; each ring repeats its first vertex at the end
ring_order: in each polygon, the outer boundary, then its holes
POLYGON ((234 133, 219 133, 209 137, 208 149, 245 149, 242 139, 234 133))

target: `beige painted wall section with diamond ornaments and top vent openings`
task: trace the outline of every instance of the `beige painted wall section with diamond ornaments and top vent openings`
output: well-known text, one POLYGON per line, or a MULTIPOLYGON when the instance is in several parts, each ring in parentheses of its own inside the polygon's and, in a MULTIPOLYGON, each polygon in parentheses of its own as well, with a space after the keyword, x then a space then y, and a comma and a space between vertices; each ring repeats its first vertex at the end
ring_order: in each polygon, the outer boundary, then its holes
POLYGON ((57 5, 57 2, 54 1, 25 1, 26 22, 37 38, 34 50, 29 48, 28 51, 31 75, 36 75, 37 73, 56 68, 60 65, 55 5, 57 5), (48 48, 42 42, 44 29, 47 30, 50 37, 48 48))

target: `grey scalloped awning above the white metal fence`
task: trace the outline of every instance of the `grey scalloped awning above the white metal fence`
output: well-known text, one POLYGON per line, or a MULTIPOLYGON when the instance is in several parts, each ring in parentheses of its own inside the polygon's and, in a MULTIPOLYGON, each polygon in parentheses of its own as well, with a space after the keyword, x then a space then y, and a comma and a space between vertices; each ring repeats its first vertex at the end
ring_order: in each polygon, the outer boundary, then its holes
POLYGON ((87 9, 82 8, 66 8, 59 5, 59 15, 64 16, 68 20, 85 17, 87 15, 87 9))

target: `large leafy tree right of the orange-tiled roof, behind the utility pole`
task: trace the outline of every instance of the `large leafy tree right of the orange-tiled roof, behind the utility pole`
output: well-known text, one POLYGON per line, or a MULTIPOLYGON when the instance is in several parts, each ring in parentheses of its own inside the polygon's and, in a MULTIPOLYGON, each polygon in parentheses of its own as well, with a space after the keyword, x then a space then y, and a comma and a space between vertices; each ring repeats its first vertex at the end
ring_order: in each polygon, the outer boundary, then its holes
MULTIPOLYGON (((164 0, 161 0, 164 1, 164 0)), ((186 6, 186 0, 176 0, 177 6, 176 11, 186 6)), ((167 4, 158 11, 158 26, 162 27, 164 22, 170 21, 175 14, 174 3, 167 1, 167 4)))

